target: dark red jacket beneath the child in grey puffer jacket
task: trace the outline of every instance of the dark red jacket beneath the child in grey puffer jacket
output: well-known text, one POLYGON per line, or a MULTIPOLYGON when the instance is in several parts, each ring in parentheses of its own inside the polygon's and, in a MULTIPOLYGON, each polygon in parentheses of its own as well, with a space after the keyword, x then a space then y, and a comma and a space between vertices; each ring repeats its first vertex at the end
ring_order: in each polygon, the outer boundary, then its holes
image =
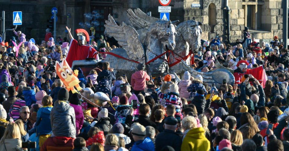
POLYGON ((74 140, 72 137, 48 137, 41 146, 41 151, 71 151, 74 140))

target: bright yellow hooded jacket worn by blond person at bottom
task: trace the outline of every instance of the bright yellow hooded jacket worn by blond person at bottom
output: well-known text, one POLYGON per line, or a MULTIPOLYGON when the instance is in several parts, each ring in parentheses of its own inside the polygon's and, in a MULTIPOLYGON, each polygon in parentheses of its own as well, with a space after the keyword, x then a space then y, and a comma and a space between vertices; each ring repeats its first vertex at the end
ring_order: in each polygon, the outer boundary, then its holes
POLYGON ((206 138, 204 128, 193 128, 185 136, 181 151, 209 151, 210 141, 206 138))

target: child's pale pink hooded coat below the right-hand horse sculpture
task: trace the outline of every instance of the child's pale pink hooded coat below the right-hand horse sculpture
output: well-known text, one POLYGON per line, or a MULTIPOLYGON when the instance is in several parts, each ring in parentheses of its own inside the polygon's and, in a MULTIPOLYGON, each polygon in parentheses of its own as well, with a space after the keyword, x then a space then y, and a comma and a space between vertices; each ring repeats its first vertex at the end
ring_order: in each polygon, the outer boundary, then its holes
POLYGON ((181 80, 179 82, 179 84, 178 84, 178 86, 179 86, 179 95, 180 95, 181 98, 184 97, 186 99, 189 99, 189 97, 190 97, 190 92, 188 92, 188 90, 187 90, 187 88, 192 83, 190 78, 191 78, 190 72, 186 71, 184 73, 183 80, 181 80))

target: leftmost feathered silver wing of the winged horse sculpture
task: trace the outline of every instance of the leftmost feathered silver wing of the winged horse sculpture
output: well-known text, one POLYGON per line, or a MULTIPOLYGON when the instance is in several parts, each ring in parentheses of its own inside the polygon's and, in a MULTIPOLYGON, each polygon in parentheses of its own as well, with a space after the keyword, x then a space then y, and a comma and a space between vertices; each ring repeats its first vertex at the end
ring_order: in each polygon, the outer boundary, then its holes
POLYGON ((144 49, 137 31, 133 27, 125 23, 118 26, 111 15, 108 16, 105 23, 106 34, 118 41, 118 44, 125 49, 130 59, 138 61, 142 58, 144 49))

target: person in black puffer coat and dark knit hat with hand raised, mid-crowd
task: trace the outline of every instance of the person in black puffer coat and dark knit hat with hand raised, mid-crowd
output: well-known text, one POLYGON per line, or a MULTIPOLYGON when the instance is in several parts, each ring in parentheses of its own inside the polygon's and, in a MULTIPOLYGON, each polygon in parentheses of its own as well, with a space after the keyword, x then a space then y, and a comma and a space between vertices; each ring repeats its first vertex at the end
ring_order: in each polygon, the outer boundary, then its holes
POLYGON ((196 94, 197 96, 195 96, 191 102, 191 104, 194 104, 196 106, 198 115, 203 114, 205 109, 210 107, 211 105, 211 97, 206 101, 204 94, 205 94, 204 90, 202 89, 197 90, 196 94))

